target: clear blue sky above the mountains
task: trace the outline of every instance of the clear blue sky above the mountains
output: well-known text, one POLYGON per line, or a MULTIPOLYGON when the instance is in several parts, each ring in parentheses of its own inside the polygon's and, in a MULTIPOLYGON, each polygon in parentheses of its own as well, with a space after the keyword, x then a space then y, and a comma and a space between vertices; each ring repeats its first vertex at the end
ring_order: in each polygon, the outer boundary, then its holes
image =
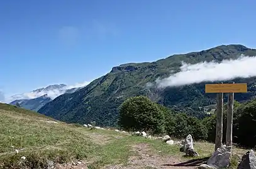
POLYGON ((256 1, 0 2, 0 91, 92 81, 123 63, 243 44, 256 48, 256 1))

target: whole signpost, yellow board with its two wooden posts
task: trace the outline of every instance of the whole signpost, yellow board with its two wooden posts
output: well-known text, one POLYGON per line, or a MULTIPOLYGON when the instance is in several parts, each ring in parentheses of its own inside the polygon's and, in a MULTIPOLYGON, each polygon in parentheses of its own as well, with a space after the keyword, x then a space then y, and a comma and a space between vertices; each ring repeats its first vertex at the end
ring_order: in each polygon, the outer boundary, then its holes
POLYGON ((247 83, 206 84, 206 93, 217 93, 215 150, 221 148, 223 138, 223 93, 228 93, 226 146, 232 146, 234 93, 247 93, 247 83))

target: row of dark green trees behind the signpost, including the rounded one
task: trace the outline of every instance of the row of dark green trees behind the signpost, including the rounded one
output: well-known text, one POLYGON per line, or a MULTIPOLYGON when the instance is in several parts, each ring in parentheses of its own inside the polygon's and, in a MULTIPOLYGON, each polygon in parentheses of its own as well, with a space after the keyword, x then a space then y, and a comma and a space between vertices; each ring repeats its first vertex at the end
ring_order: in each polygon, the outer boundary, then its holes
MULTIPOLYGON (((226 136, 226 109, 223 107, 223 143, 226 136)), ((119 110, 118 126, 127 131, 145 131, 153 135, 170 135, 185 138, 191 134, 194 140, 214 142, 216 115, 200 120, 195 116, 177 112, 154 103, 146 96, 125 100, 119 110)), ((233 143, 253 148, 256 143, 256 100, 234 103, 233 143)))

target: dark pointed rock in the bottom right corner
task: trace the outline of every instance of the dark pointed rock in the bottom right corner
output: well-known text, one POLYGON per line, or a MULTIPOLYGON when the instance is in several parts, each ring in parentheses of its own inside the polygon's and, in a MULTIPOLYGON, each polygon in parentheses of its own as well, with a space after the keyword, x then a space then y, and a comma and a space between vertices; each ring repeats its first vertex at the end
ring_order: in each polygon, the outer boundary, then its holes
POLYGON ((256 156, 253 150, 247 151, 245 155, 242 156, 242 161, 239 163, 237 169, 251 169, 256 168, 256 156))

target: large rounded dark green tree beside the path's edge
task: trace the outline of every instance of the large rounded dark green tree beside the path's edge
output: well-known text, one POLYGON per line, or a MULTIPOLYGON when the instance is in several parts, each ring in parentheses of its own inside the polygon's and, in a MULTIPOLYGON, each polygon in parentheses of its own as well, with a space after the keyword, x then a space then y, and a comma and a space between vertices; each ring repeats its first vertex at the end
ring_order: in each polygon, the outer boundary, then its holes
POLYGON ((146 96, 128 98, 121 104, 119 113, 118 125, 125 130, 164 132, 164 113, 146 96))

